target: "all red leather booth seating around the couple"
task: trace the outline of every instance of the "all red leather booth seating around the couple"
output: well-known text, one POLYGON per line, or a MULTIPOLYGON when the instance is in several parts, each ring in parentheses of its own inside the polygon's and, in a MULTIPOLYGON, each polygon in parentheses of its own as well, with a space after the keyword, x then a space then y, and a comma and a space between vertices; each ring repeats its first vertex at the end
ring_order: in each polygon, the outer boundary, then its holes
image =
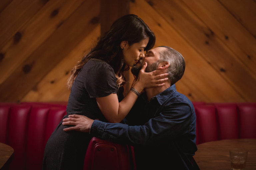
MULTIPOLYGON (((44 146, 66 114, 67 103, 0 103, 0 142, 14 154, 3 169, 42 169, 44 146)), ((193 102, 197 144, 212 140, 256 138, 256 103, 193 102)), ((84 169, 136 169, 133 149, 98 138, 90 142, 84 169)))

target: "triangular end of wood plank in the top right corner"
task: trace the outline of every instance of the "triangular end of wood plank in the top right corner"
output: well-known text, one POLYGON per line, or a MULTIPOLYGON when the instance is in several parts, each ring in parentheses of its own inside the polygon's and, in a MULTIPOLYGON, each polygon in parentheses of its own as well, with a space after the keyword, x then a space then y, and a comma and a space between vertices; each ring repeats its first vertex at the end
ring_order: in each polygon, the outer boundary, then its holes
POLYGON ((256 38, 256 3, 253 0, 218 1, 256 38))

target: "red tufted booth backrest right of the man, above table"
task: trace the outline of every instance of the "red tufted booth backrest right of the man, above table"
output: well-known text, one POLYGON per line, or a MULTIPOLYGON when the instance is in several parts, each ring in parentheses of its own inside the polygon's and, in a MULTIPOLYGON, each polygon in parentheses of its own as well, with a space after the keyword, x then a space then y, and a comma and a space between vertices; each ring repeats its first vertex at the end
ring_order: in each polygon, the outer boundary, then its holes
POLYGON ((256 103, 194 105, 197 144, 221 139, 256 138, 256 103))

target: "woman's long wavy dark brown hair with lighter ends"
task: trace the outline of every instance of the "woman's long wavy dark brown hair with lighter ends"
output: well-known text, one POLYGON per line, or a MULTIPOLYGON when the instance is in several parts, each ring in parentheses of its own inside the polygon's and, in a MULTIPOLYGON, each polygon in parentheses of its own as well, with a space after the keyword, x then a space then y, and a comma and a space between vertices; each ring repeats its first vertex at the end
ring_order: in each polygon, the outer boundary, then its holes
POLYGON ((97 45, 92 48, 86 56, 83 56, 82 60, 72 68, 71 75, 67 82, 68 88, 71 89, 82 67, 92 58, 103 60, 114 69, 117 78, 116 83, 119 88, 120 85, 125 82, 123 75, 125 64, 120 47, 121 42, 128 41, 130 46, 148 37, 149 42, 145 50, 153 48, 155 45, 155 35, 137 15, 128 14, 117 19, 110 27, 110 30, 100 38, 97 45))

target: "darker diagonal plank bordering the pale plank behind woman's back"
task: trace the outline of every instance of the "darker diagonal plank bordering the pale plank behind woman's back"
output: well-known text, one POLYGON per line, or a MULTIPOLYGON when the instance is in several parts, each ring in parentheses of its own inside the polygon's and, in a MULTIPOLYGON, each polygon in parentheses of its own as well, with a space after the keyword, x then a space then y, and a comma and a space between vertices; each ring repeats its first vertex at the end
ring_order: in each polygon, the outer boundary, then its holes
POLYGON ((23 98, 99 21, 99 1, 85 1, 79 8, 0 85, 0 101, 23 98), (9 90, 6 90, 9 89, 9 90))

